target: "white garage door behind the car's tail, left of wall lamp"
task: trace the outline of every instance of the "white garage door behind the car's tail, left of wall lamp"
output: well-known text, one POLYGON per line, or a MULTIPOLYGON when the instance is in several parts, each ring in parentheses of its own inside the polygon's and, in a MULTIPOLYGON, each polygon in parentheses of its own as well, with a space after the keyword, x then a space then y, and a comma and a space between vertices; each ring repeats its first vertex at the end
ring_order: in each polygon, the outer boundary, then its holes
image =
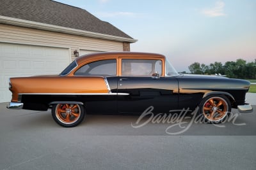
POLYGON ((10 77, 59 74, 71 62, 68 48, 0 43, 0 103, 10 101, 10 77))

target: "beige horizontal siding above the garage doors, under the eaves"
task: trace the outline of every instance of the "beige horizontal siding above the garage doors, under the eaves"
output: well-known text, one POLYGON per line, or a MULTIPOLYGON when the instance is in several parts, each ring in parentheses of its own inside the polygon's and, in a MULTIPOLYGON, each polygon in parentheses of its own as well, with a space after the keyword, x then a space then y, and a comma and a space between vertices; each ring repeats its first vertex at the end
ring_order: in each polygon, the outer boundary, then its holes
POLYGON ((74 59, 74 50, 123 51, 122 42, 104 39, 86 38, 58 32, 40 31, 24 27, 0 24, 0 42, 24 43, 29 45, 60 46, 70 48, 74 59))

